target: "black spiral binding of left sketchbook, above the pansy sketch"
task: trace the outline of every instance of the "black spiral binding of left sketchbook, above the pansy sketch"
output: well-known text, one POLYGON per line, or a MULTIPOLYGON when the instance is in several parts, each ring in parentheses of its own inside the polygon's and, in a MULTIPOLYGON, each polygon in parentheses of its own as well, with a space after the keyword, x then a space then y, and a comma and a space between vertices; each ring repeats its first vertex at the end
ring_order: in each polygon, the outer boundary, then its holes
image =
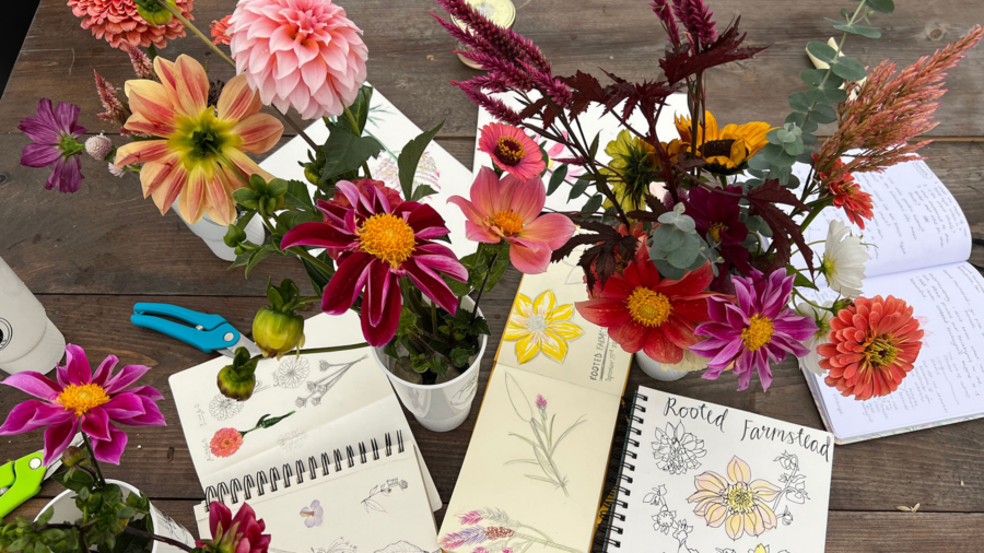
MULTIPOLYGON (((330 455, 328 451, 323 451, 318 457, 311 456, 307 458, 306 466, 304 459, 297 459, 293 462, 283 463, 279 470, 277 467, 270 467, 268 471, 258 471, 255 480, 253 474, 244 474, 243 478, 232 479, 229 483, 220 482, 218 485, 208 486, 206 489, 206 511, 209 510, 209 506, 213 501, 225 505, 235 505, 239 503, 239 497, 243 498, 242 501, 251 499, 254 490, 256 490, 257 496, 262 496, 267 492, 277 492, 278 483, 283 485, 284 489, 290 487, 291 484, 301 484, 304 482, 305 473, 311 480, 316 480, 319 475, 327 476, 329 473, 341 472, 345 468, 354 468, 356 459, 359 464, 364 464, 371 460, 370 455, 372 455, 372 460, 374 461, 378 460, 383 455, 386 457, 391 456, 394 442, 390 433, 386 433, 383 443, 384 450, 382 451, 379 443, 376 438, 372 438, 368 448, 364 442, 358 444, 358 454, 352 446, 345 446, 344 454, 340 449, 335 449, 330 455), (318 474, 318 458, 320 458, 320 474, 318 474), (332 464, 335 466, 333 469, 331 469, 332 464)), ((406 450, 403 431, 397 431, 396 450, 400 454, 406 450)))

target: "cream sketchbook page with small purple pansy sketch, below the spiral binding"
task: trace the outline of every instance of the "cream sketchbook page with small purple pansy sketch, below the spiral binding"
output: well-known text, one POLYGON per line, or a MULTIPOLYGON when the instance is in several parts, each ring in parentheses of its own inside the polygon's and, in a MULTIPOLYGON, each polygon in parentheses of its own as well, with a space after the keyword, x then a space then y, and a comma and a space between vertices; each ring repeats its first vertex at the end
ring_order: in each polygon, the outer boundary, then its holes
MULTIPOLYGON (((406 451, 281 487, 248 501, 271 553, 438 553, 417 458, 406 451)), ((241 504, 242 505, 242 504, 241 504)), ((231 505, 235 514, 241 505, 231 505)), ((195 508, 209 537, 209 514, 195 508)))

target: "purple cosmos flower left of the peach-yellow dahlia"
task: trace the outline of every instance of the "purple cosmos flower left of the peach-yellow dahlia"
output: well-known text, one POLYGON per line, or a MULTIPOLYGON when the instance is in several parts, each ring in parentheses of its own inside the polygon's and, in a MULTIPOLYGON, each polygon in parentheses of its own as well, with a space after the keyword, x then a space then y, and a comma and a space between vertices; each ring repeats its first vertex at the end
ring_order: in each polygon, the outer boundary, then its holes
POLYGON ((27 167, 55 166, 45 189, 75 192, 82 186, 81 152, 85 146, 77 139, 85 133, 78 125, 79 106, 59 102, 51 110, 51 101, 37 102, 37 115, 21 121, 17 129, 34 143, 24 146, 21 165, 27 167))

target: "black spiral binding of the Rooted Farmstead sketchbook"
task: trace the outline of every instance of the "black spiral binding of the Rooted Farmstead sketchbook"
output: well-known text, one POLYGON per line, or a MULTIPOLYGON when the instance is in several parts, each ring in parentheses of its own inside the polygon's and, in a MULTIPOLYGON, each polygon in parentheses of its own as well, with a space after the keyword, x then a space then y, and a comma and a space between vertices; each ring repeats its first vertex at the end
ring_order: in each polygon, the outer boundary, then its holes
POLYGON ((640 446, 636 436, 642 436, 642 431, 636 424, 643 424, 646 407, 643 402, 648 397, 635 392, 632 395, 632 403, 623 403, 619 410, 618 424, 616 425, 616 438, 612 443, 612 458, 608 463, 608 471, 602 487, 602 510, 595 538, 591 543, 591 553, 607 553, 622 546, 619 536, 625 522, 625 514, 621 510, 629 508, 629 503, 623 497, 629 497, 630 491, 623 484, 632 483, 632 472, 635 472, 635 461, 639 459, 636 449, 640 446), (611 499, 609 503, 609 498, 611 499))

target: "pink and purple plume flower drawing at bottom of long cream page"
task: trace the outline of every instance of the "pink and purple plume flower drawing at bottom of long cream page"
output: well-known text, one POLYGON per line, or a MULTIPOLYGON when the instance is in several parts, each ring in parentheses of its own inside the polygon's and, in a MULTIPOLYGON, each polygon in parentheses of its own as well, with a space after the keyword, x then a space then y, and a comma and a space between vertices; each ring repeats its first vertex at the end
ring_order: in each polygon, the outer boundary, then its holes
POLYGON ((458 521, 466 528, 437 540, 447 551, 464 552, 462 548, 471 546, 471 553, 525 553, 531 546, 540 545, 567 553, 584 553, 555 542, 540 530, 511 518, 502 509, 469 510, 458 515, 458 521))

